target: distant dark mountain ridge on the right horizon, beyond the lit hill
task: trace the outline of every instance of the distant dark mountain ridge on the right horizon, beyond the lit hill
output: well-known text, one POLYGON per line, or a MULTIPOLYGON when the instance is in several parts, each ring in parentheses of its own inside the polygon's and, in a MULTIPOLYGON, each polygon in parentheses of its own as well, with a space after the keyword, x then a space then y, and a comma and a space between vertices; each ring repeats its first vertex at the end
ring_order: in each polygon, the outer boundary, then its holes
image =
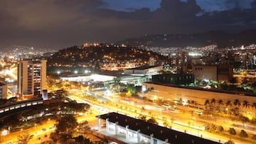
POLYGON ((148 47, 203 47, 218 45, 218 48, 251 45, 256 43, 256 29, 227 33, 225 31, 208 31, 194 34, 144 35, 139 38, 120 40, 117 44, 148 47))

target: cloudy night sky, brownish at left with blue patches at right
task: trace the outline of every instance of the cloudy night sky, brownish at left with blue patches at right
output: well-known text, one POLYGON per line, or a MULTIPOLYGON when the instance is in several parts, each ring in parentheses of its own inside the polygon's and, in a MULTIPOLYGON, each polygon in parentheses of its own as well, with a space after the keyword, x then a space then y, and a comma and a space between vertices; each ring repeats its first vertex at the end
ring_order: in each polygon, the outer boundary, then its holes
POLYGON ((1 0, 0 48, 256 28, 256 0, 1 0))

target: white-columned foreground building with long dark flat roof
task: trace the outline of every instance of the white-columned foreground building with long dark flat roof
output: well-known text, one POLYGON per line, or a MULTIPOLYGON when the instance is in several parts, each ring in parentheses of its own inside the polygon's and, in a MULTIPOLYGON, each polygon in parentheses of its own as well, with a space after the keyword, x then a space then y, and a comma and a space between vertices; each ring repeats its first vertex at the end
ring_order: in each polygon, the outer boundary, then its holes
POLYGON ((134 139, 136 143, 150 144, 217 144, 187 133, 174 131, 170 128, 148 123, 137 118, 132 118, 119 113, 106 113, 98 118, 98 128, 102 128, 101 120, 105 123, 107 133, 119 135, 124 140, 134 139))

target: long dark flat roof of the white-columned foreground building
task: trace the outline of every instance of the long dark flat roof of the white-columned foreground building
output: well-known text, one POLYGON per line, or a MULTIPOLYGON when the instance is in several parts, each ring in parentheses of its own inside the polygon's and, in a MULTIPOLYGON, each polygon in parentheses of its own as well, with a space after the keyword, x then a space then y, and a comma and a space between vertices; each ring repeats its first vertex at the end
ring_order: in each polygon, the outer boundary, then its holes
POLYGON ((217 144, 217 142, 214 142, 212 140, 200 138, 179 131, 174 131, 170 128, 159 126, 153 123, 148 123, 146 121, 125 116, 115 112, 102 114, 100 115, 100 118, 104 120, 108 119, 108 121, 112 123, 118 123, 118 125, 122 127, 128 126, 129 129, 133 131, 139 131, 139 133, 142 133, 144 135, 153 134, 154 138, 157 138, 162 141, 168 140, 168 143, 171 144, 217 144))

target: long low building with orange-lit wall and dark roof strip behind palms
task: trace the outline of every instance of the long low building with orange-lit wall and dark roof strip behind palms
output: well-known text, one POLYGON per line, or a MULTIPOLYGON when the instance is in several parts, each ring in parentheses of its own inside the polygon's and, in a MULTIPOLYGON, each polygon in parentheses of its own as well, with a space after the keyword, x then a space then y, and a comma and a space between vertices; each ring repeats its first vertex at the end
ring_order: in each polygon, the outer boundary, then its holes
MULTIPOLYGON (((236 106, 227 106, 227 102, 233 103, 235 99, 240 101, 242 105, 244 101, 248 101, 250 105, 256 102, 256 95, 243 92, 220 91, 213 89, 203 89, 198 87, 181 87, 168 84, 155 84, 153 82, 144 82, 142 87, 145 89, 153 89, 144 94, 148 99, 163 99, 183 105, 189 104, 196 106, 198 109, 206 108, 206 100, 215 100, 213 107, 220 106, 225 109, 235 109, 236 106), (193 101, 193 102, 192 102, 193 101), (220 104, 219 101, 223 101, 220 104)), ((240 113, 245 114, 248 118, 255 116, 255 109, 252 106, 241 106, 240 113)), ((239 108, 239 107, 238 107, 239 108)))

